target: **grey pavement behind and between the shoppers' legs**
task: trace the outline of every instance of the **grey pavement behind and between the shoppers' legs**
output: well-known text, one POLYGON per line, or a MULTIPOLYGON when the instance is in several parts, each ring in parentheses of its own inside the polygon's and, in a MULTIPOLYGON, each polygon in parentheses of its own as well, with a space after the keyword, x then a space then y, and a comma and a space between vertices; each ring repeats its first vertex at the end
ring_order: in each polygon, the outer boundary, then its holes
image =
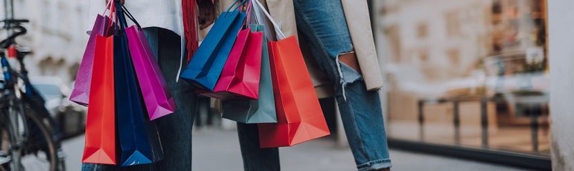
MULTIPOLYGON (((234 130, 200 130, 193 134, 193 170, 241 171, 237 132, 234 130)), ((84 137, 68 139, 64 151, 68 170, 80 170, 84 137)), ((282 170, 346 171, 356 170, 349 148, 337 148, 329 138, 317 139, 290 148, 281 148, 282 170)), ((449 157, 391 150, 393 170, 524 170, 449 157)))

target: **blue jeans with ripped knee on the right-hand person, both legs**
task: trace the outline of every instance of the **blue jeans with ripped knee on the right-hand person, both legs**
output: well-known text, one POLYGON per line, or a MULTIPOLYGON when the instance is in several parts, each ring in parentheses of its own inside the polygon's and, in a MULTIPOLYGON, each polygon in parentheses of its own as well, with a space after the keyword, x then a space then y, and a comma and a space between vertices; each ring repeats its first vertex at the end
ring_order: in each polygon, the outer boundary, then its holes
MULTIPOLYGON (((358 170, 391 168, 380 97, 359 72, 339 61, 353 51, 341 1, 293 0, 297 30, 335 85, 335 98, 358 170)), ((277 148, 260 149, 257 125, 238 123, 245 170, 280 170, 277 148)))

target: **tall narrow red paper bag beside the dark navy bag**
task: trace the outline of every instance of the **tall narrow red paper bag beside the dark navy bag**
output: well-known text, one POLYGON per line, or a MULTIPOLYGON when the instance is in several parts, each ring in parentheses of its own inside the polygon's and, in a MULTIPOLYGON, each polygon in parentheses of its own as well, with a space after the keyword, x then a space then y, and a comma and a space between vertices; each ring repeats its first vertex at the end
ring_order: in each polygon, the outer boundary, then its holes
POLYGON ((83 163, 117 161, 113 79, 113 36, 96 36, 83 163))

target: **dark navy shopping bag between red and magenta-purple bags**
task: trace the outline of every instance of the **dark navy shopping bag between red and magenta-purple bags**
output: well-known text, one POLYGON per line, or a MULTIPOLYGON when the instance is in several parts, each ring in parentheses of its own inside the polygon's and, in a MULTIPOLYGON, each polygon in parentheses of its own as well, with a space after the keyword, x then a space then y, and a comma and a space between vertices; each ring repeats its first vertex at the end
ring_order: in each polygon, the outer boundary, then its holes
MULTIPOLYGON (((120 6, 119 1, 116 6, 120 6)), ((157 126, 149 121, 140 98, 138 81, 131 62, 124 10, 118 8, 120 32, 114 36, 115 116, 118 120, 118 139, 121 165, 141 165, 163 159, 157 126)))

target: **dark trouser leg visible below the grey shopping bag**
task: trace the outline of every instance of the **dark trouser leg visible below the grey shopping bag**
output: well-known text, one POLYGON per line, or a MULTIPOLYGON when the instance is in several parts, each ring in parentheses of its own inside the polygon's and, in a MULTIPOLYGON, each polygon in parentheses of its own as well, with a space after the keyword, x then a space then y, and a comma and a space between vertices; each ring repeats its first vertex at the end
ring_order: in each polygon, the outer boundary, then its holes
POLYGON ((259 148, 257 124, 237 123, 243 170, 245 171, 278 171, 279 148, 259 148))

